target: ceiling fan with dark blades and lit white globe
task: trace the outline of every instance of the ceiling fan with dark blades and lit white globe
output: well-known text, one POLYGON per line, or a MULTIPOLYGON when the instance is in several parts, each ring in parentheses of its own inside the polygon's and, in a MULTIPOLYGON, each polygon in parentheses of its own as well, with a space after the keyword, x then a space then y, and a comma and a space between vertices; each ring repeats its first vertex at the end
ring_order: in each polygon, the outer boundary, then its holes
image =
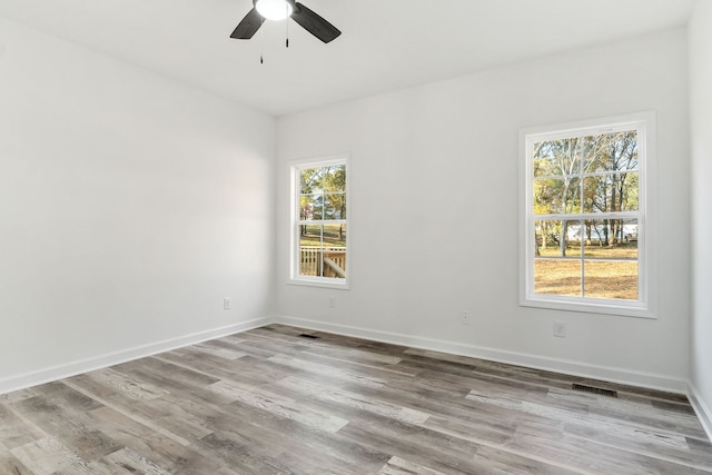
POLYGON ((284 20, 288 17, 325 43, 342 34, 332 23, 295 0, 253 0, 253 6, 230 38, 248 40, 265 20, 284 20))

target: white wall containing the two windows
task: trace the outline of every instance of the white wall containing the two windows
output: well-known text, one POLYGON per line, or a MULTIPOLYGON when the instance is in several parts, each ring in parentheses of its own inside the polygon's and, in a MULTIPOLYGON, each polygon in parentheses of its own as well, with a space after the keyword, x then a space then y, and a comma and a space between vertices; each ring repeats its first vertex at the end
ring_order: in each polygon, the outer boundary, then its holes
POLYGON ((678 29, 280 118, 281 320, 685 390, 686 68, 678 29), (520 128, 644 110, 657 115, 659 318, 520 307, 520 128), (352 154, 352 289, 288 285, 288 162, 338 152, 352 154))

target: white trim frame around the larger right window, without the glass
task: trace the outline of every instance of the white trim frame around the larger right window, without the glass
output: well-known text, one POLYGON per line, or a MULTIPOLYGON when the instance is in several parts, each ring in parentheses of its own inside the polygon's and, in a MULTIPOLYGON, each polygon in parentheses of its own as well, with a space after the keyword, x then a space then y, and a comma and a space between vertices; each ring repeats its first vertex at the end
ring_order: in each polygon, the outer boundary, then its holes
POLYGON ((624 116, 606 117, 576 122, 525 128, 520 130, 520 305, 524 307, 550 308, 557 310, 584 311, 594 314, 620 315, 630 317, 655 318, 656 299, 656 147, 655 112, 645 111, 624 116), (533 212, 533 164, 532 145, 534 140, 546 136, 576 136, 583 130, 606 132, 619 128, 639 126, 639 150, 644 159, 639 160, 639 289, 640 300, 586 299, 585 297, 564 297, 534 294, 534 239, 533 212))

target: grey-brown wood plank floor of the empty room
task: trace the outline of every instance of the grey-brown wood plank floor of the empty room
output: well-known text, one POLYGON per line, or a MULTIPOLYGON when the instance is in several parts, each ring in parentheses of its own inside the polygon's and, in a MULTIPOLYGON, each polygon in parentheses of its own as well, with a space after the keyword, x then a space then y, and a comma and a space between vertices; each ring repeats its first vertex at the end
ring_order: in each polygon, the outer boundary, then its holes
POLYGON ((0 474, 55 473, 712 474, 712 445, 684 396, 271 325, 0 396, 0 474))

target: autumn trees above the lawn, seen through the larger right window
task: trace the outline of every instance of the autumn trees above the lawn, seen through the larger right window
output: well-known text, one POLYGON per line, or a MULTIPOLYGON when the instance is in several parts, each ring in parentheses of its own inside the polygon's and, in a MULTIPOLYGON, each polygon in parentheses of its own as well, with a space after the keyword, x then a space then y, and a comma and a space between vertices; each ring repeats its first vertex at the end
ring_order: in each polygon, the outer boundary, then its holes
POLYGON ((571 219, 561 215, 589 215, 574 221, 577 240, 615 246, 634 238, 635 226, 623 219, 591 215, 637 210, 637 133, 625 131, 537 142, 534 146, 534 214, 536 254, 550 245, 566 256, 571 219), (557 218, 557 219, 554 219, 557 218))

